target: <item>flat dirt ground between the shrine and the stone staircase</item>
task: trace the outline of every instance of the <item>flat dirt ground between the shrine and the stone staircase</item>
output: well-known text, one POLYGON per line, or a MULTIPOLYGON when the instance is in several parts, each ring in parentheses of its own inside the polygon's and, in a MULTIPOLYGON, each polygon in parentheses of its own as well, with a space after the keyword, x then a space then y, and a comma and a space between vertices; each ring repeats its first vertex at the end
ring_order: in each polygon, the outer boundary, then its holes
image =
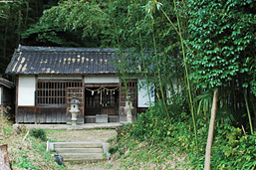
POLYGON ((115 129, 106 130, 45 130, 49 139, 58 142, 96 141, 106 142, 117 135, 115 129))

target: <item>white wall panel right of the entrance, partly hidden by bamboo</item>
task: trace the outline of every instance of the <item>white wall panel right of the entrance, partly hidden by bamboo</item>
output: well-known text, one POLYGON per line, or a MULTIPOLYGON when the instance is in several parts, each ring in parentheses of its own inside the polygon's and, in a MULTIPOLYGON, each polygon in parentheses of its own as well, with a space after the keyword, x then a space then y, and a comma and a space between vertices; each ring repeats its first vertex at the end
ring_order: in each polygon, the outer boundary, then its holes
MULTIPOLYGON (((145 85, 144 80, 137 80, 137 107, 148 107, 149 97, 147 91, 147 85, 145 85)), ((152 85, 148 86, 151 104, 154 102, 154 87, 152 85)))

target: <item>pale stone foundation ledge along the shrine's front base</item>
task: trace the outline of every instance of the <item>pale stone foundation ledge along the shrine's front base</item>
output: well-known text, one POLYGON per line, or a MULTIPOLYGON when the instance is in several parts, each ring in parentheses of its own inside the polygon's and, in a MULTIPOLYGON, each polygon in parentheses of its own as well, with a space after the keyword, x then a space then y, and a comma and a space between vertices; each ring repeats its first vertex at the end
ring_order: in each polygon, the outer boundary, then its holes
MULTIPOLYGON (((14 124, 17 125, 17 124, 14 124)), ((85 123, 76 126, 68 124, 23 124, 27 129, 42 128, 42 129, 67 129, 67 130, 83 130, 83 129, 116 129, 123 126, 120 122, 114 123, 85 123)))

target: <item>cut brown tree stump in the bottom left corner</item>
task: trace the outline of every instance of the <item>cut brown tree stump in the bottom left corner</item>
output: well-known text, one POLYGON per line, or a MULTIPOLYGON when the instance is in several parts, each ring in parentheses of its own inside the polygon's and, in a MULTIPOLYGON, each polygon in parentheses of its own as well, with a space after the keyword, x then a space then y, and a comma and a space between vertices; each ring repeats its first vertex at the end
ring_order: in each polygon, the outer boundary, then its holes
POLYGON ((7 144, 0 145, 0 170, 11 170, 9 162, 7 144))

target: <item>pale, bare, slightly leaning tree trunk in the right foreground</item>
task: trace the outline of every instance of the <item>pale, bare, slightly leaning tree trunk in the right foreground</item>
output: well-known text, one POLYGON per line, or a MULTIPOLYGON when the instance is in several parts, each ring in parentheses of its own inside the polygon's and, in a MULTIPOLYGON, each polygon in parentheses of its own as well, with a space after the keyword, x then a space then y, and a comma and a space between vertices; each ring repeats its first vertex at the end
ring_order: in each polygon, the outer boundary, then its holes
POLYGON ((209 125, 208 139, 207 139, 207 145, 206 145, 206 151, 205 151, 204 170, 210 170, 210 155, 211 155, 211 145, 213 140, 214 122, 215 122, 216 109, 217 109, 217 97, 218 97, 218 89, 214 90, 214 96, 212 101, 210 125, 209 125))

